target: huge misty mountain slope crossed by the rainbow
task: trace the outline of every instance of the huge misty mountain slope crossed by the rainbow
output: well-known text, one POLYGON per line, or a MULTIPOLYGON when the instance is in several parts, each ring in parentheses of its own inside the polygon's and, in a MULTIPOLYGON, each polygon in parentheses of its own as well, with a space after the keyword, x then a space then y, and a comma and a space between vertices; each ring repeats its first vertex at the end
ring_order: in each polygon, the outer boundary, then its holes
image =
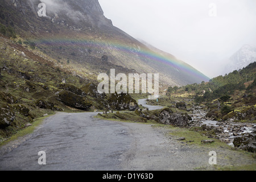
POLYGON ((159 73, 160 83, 168 86, 209 80, 183 61, 114 27, 97 0, 0 2, 0 23, 15 30, 19 35, 15 41, 81 77, 96 80, 99 73, 114 68, 116 73, 159 73))

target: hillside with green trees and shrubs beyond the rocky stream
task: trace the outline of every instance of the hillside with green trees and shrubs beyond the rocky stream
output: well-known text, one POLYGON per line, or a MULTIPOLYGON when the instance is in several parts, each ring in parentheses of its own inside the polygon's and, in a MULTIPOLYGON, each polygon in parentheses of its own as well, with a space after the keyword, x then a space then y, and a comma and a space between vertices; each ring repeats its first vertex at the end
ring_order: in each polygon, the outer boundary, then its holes
POLYGON ((207 105, 207 116, 216 120, 255 121, 256 63, 218 76, 209 82, 168 88, 167 95, 189 94, 197 104, 207 105))

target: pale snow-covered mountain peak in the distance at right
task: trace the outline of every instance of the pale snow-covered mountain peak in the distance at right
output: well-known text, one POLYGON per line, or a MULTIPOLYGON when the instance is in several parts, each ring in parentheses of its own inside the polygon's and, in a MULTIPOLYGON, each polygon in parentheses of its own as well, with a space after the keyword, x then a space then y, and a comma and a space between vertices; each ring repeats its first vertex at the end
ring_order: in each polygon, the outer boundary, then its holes
POLYGON ((228 60, 228 65, 225 67, 225 73, 230 73, 235 70, 240 70, 247 67, 250 63, 256 61, 256 48, 250 45, 244 45, 228 60))

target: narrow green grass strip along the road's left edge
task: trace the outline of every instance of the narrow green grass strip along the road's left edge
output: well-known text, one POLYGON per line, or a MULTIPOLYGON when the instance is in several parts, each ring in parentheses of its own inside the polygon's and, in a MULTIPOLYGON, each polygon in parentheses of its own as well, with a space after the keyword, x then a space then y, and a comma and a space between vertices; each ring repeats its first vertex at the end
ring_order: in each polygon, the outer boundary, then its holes
POLYGON ((31 126, 27 127, 26 129, 18 131, 16 134, 11 136, 9 139, 0 143, 0 147, 6 145, 7 143, 9 143, 11 141, 14 141, 16 139, 19 139, 21 137, 24 137, 26 135, 29 135, 29 134, 33 133, 38 126, 42 125, 42 122, 44 121, 44 119, 46 119, 46 118, 48 118, 48 117, 50 117, 51 115, 54 115, 54 114, 55 113, 51 113, 51 114, 46 115, 45 117, 35 119, 35 121, 32 123, 31 126))

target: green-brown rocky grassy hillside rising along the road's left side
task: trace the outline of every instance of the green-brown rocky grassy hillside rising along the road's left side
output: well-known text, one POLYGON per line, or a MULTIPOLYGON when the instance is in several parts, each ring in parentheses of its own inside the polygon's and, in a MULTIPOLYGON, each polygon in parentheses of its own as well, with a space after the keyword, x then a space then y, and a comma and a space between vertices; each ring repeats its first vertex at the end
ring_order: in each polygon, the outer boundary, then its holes
POLYGON ((93 79, 60 67, 39 50, 0 36, 0 142, 55 111, 128 109, 128 95, 98 94, 93 79), (109 104, 111 98, 112 104, 109 104), (126 105, 120 109, 119 104, 126 105))

